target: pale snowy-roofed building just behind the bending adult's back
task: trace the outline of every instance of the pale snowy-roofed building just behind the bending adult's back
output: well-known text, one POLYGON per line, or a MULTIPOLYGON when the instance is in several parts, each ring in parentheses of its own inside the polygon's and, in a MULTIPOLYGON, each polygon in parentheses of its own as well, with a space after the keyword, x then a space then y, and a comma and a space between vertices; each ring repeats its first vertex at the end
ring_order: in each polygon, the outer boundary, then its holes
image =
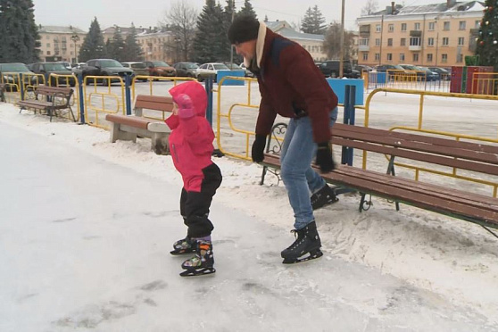
POLYGON ((295 31, 286 21, 267 21, 266 26, 273 32, 286 37, 304 47, 315 61, 327 60, 327 54, 323 48, 324 35, 301 33, 295 31))

